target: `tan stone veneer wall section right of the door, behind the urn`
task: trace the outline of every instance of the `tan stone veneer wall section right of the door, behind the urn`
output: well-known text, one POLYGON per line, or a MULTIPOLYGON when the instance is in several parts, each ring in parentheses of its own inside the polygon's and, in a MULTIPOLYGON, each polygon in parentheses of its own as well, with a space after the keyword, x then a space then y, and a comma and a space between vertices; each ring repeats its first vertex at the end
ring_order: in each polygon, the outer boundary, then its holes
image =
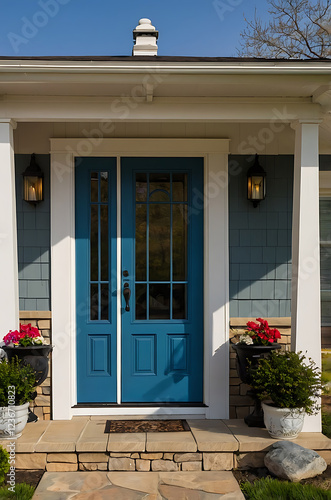
MULTIPOLYGON (((281 333, 281 349, 288 351, 291 348, 291 318, 266 318, 272 328, 281 333)), ((244 333, 247 321, 256 318, 231 318, 230 339, 236 333, 244 333)), ((231 342, 231 341, 230 341, 231 342)), ((253 399, 247 394, 250 387, 241 382, 236 369, 236 353, 230 343, 230 418, 244 418, 253 410, 253 399)))

